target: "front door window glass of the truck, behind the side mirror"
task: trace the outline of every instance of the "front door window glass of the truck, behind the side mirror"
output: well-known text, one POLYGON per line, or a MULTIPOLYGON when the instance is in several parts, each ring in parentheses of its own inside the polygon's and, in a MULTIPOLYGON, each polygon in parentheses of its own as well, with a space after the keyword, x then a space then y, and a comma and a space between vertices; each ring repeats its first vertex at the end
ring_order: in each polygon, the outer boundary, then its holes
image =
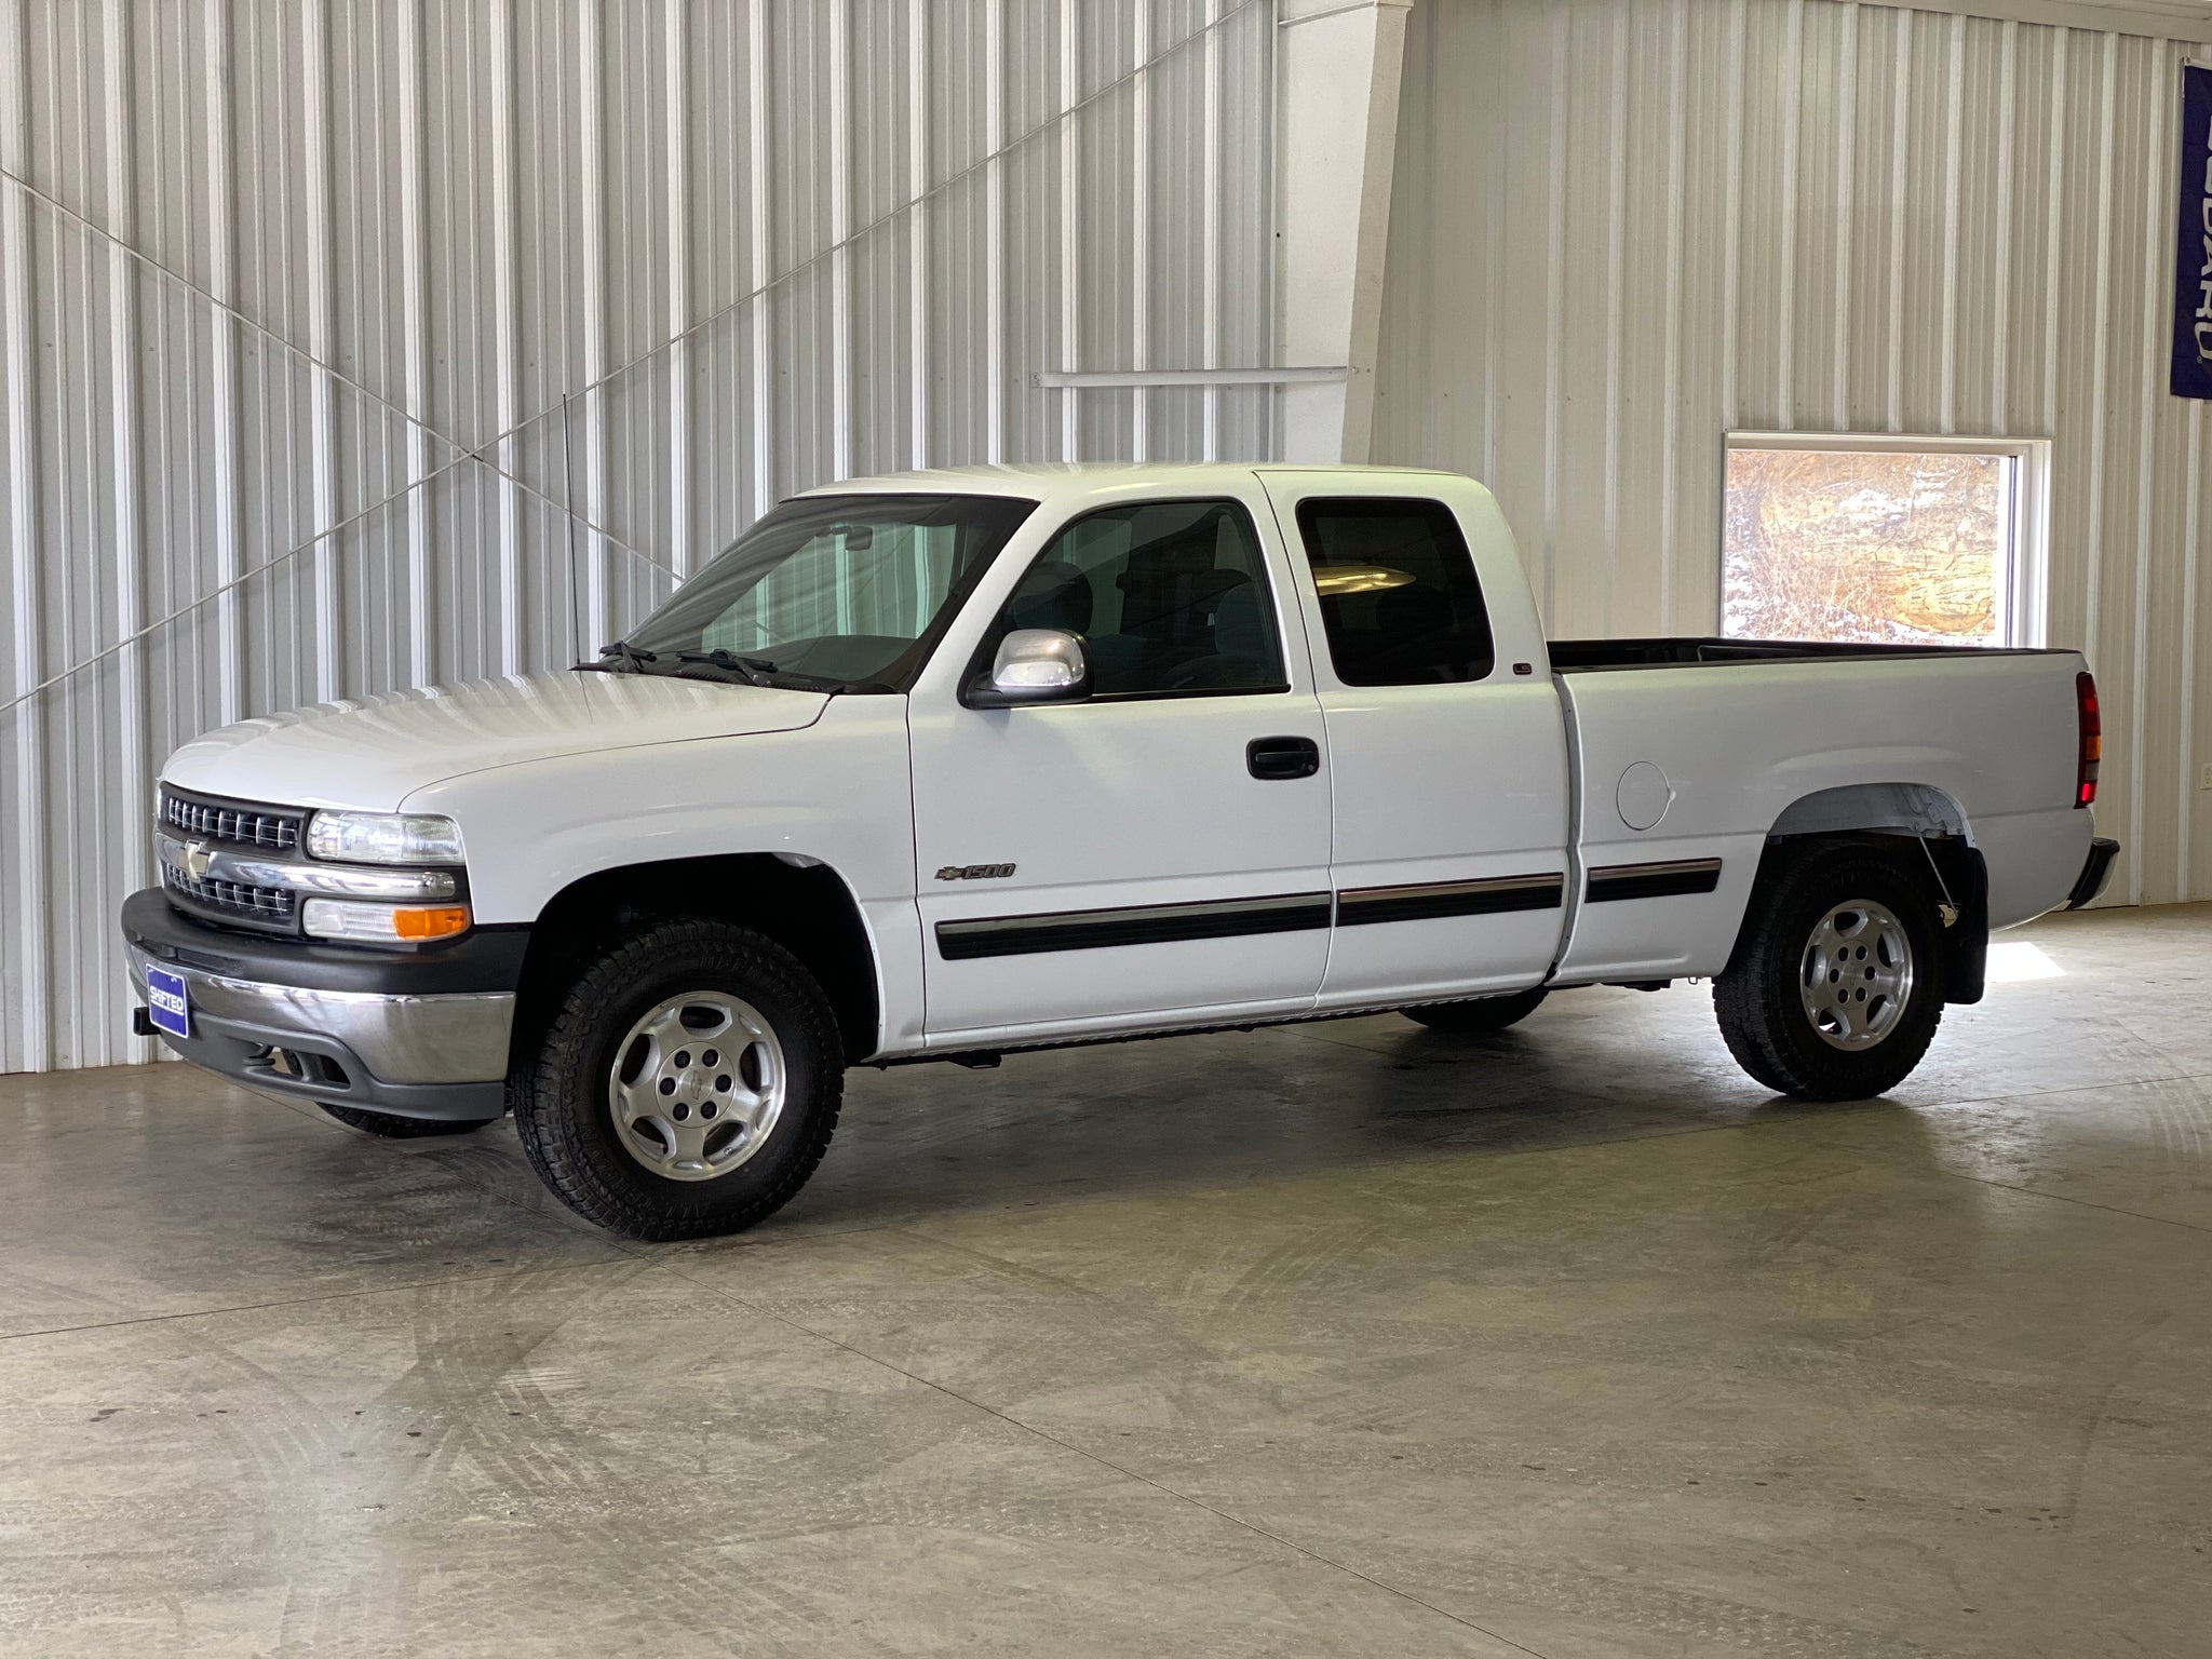
POLYGON ((1075 520, 1029 566, 982 666, 1013 628, 1082 635, 1097 697, 1287 686, 1259 538, 1237 502, 1137 502, 1075 520))

